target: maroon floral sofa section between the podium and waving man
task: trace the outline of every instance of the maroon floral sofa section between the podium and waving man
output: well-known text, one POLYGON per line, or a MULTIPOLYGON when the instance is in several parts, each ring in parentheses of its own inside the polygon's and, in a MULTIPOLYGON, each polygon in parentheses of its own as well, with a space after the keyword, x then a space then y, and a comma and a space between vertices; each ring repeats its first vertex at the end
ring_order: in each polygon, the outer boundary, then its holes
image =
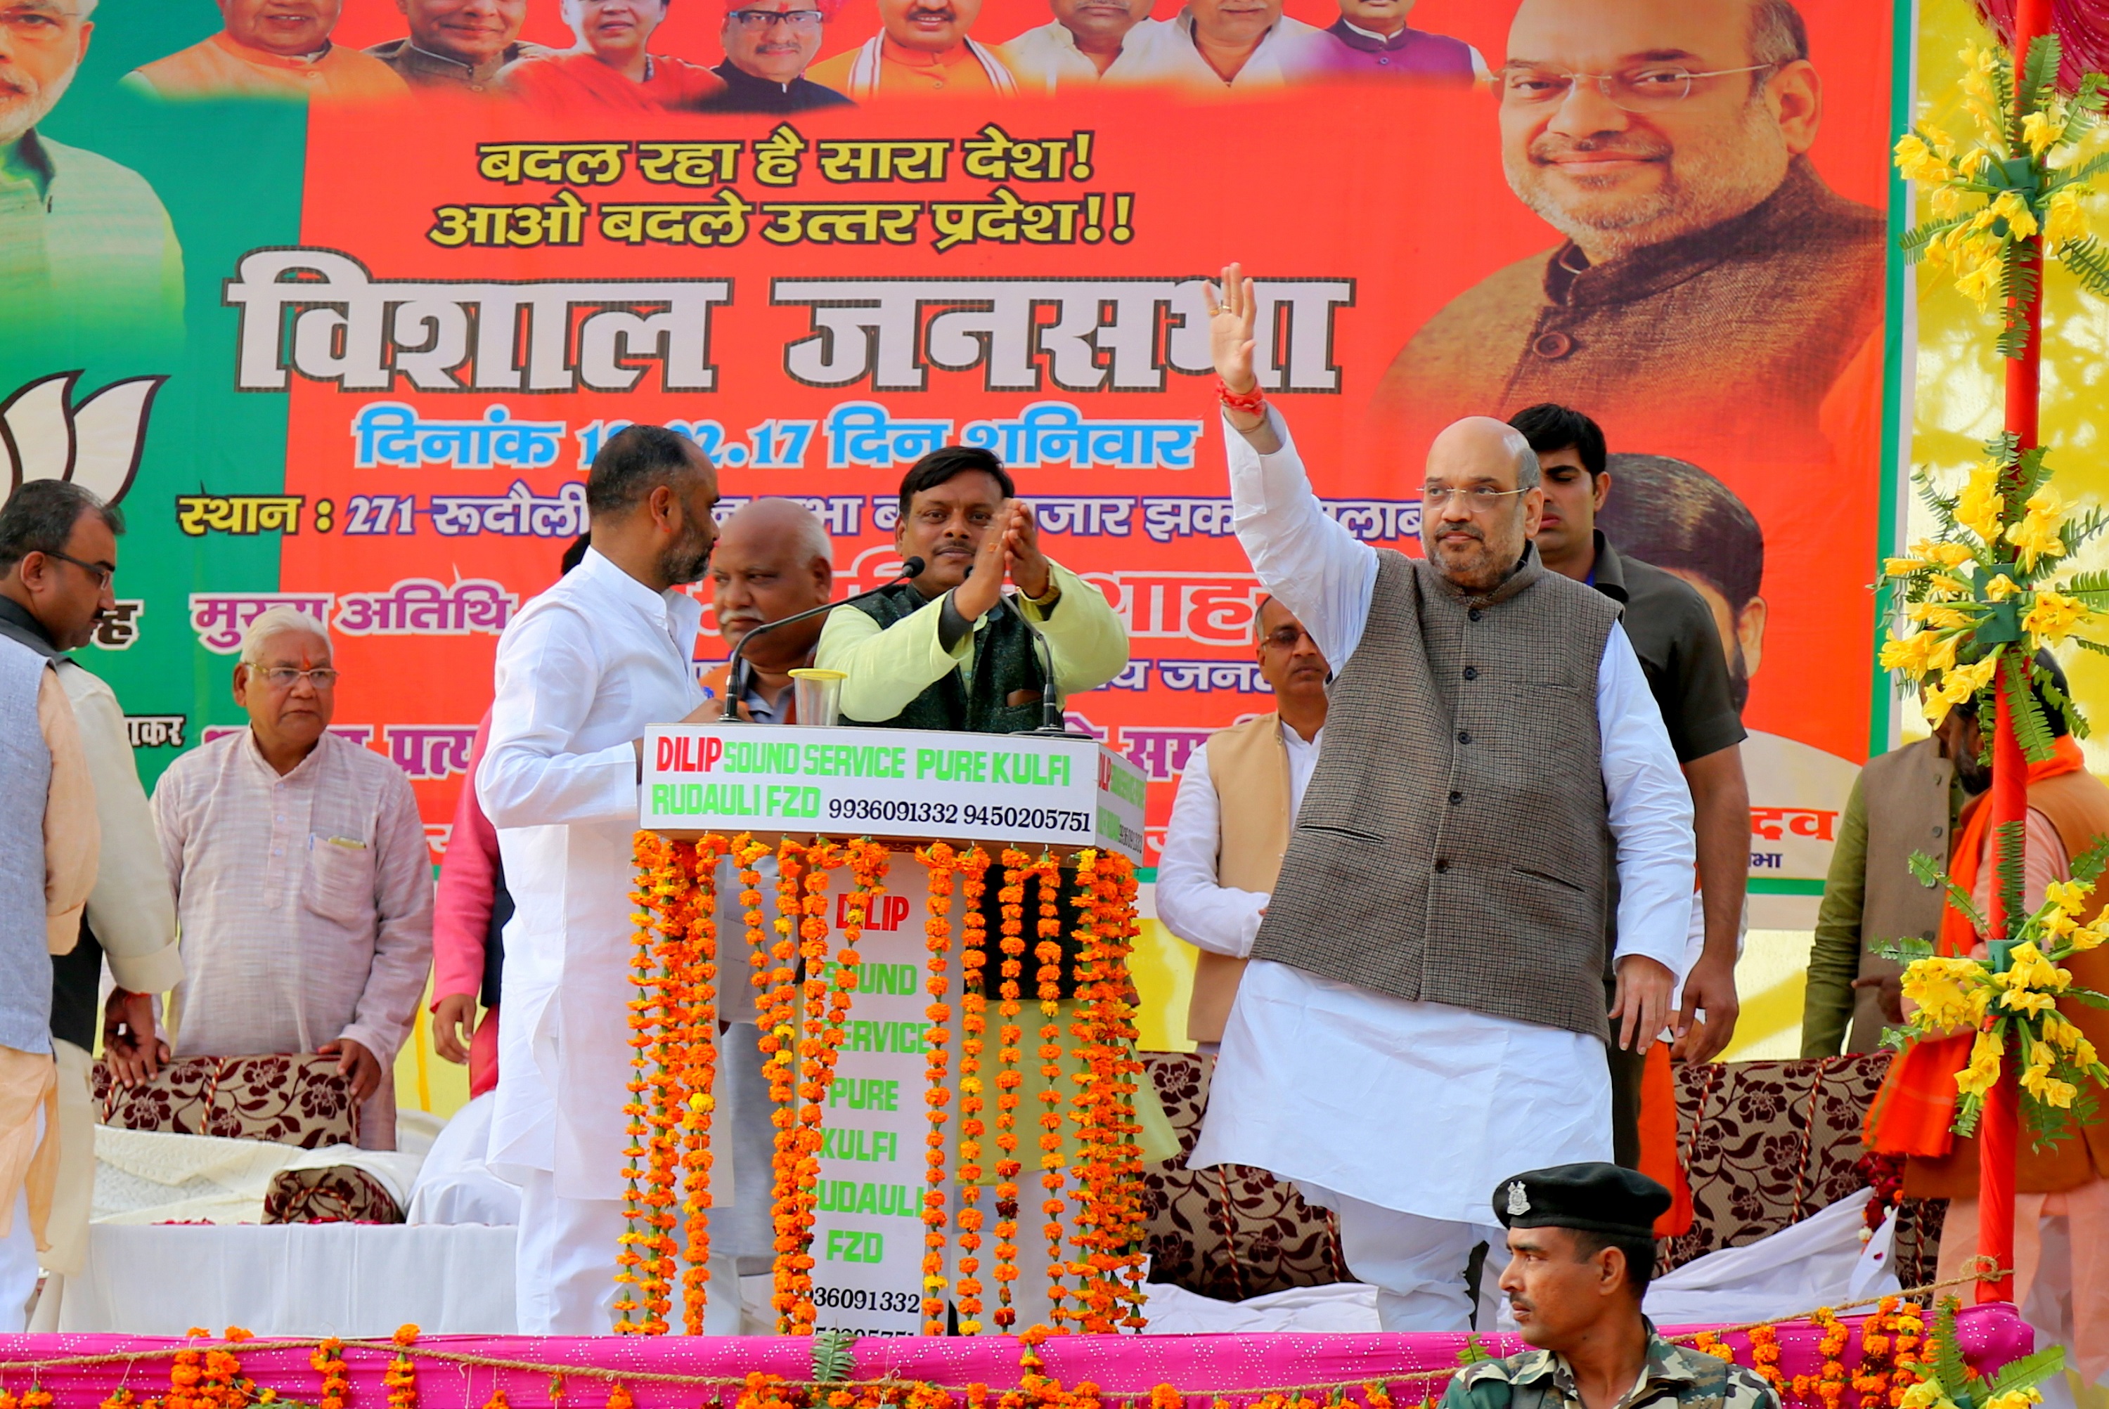
POLYGON ((1331 1213, 1308 1207, 1263 1169, 1185 1169, 1215 1063, 1177 1053, 1141 1057, 1179 1133, 1179 1158, 1143 1171, 1149 1278, 1219 1301, 1352 1280, 1331 1213))

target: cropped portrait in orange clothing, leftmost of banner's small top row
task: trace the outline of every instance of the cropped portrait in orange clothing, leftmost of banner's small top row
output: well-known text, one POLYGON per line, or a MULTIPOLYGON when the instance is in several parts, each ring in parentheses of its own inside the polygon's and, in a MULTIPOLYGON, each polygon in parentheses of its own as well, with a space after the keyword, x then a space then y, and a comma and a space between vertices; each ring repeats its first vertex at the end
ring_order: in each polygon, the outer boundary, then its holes
POLYGON ((219 0, 221 30, 124 84, 152 97, 280 97, 350 103, 409 86, 369 53, 329 42, 344 0, 219 0))

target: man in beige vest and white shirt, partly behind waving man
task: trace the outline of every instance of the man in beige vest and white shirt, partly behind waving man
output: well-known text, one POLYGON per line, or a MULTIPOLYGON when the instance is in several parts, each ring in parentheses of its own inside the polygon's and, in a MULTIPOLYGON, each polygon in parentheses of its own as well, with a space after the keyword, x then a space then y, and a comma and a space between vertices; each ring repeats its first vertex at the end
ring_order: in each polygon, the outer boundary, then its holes
POLYGON ((1211 1050, 1223 1040, 1238 974, 1289 850, 1289 823, 1318 766, 1333 675, 1312 633, 1272 597, 1259 603, 1253 633, 1274 709, 1211 734, 1187 759, 1158 854, 1158 920, 1200 949, 1187 1042, 1211 1050))

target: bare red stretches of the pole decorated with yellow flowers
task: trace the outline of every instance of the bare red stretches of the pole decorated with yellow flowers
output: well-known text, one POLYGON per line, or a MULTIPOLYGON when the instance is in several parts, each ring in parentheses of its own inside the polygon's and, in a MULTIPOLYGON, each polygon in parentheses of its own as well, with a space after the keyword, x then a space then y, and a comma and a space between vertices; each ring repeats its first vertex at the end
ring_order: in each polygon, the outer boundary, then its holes
MULTIPOLYGON (((2014 4, 2014 67, 2020 70, 2029 46, 2037 36, 2050 34, 2050 0, 2016 0, 2014 4)), ((2027 84, 2014 84, 2014 120, 2027 112, 2027 84)), ((2018 356, 2006 363, 2006 432, 2014 437, 2016 449, 2027 451, 2037 445, 2037 407, 2042 405, 2039 371, 2044 359, 2044 245, 2029 238, 2020 251, 2020 266, 2027 276, 2014 289, 2018 323, 2025 335, 2018 356)), ((2008 496, 2020 491, 2020 462, 2008 470, 2008 496)), ((2008 662, 1999 671, 1997 709, 1993 715, 1991 745, 1991 846, 1993 856, 2004 858, 2008 846, 2016 848, 2018 863, 2020 829, 2029 814, 2029 759, 2020 749, 2020 734, 2014 728, 2014 692, 2027 690, 2027 671, 2018 662, 2008 662)), ((1999 869, 1995 867, 1995 877, 1999 869)), ((1991 947, 1993 970, 2008 966, 2012 934, 2018 915, 2008 915, 2001 886, 1991 886, 1985 937, 1991 947)), ((1978 1257, 1987 1270, 1997 1268, 1997 1276, 1980 1276, 1976 1285, 1978 1301, 2010 1301, 2014 1278, 2014 1171, 2020 1162, 2020 1088, 2018 1074, 2008 1072, 1985 1093, 1985 1118, 1978 1126, 1978 1257)))

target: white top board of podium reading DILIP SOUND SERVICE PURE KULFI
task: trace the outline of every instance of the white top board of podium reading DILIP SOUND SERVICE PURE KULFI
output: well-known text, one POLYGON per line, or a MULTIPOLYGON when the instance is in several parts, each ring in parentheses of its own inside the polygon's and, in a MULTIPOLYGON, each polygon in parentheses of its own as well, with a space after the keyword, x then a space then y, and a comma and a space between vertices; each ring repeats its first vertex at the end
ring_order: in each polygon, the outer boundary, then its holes
POLYGON ((1143 772, 1090 738, 660 723, 643 831, 1099 846, 1143 858, 1143 772))

